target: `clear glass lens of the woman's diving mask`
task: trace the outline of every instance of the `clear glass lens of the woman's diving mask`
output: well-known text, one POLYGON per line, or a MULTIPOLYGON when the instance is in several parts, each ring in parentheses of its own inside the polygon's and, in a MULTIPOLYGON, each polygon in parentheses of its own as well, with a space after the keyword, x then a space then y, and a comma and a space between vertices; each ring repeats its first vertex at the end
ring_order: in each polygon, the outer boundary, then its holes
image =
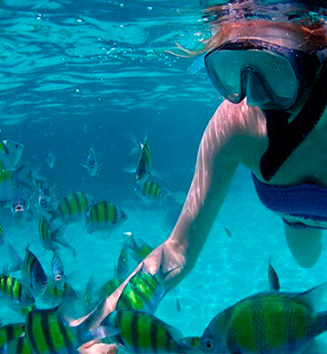
MULTIPOLYGON (((262 81, 270 101, 283 109, 291 107, 298 96, 298 78, 287 58, 270 50, 213 50, 205 58, 210 80, 232 103, 247 96, 247 72, 256 73, 253 84, 262 81), (255 81, 254 81, 255 80, 255 81)), ((251 89, 254 93, 254 89, 251 89)))

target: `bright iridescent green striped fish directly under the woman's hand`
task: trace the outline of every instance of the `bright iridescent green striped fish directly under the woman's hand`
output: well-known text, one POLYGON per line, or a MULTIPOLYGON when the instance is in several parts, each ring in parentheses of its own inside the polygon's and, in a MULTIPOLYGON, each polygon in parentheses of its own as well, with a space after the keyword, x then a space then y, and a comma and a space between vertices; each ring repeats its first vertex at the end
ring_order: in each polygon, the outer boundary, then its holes
POLYGON ((168 289, 164 287, 165 278, 172 272, 164 272, 163 263, 156 274, 140 270, 133 275, 123 289, 116 305, 117 310, 139 310, 155 313, 168 289))

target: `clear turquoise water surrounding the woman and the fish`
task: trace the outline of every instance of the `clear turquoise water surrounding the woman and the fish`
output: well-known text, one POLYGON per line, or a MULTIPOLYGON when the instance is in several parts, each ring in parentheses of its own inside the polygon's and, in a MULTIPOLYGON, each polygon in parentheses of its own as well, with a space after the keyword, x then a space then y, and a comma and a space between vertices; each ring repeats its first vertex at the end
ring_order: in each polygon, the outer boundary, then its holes
MULTIPOLYGON (((209 27, 198 2, 184 0, 6 0, 0 19, 1 140, 23 143, 23 161, 42 162, 42 176, 59 200, 82 191, 112 201, 127 215, 106 240, 101 232, 87 235, 82 224, 65 231, 77 251, 73 258, 70 250, 60 250, 65 273, 74 273, 74 289, 82 293, 92 273, 100 287, 112 277, 122 232, 156 246, 179 216, 182 204, 148 206, 134 192, 134 176, 126 172, 136 163, 131 133, 141 141, 148 136, 160 183, 186 195, 202 133, 221 97, 203 69, 188 70, 196 59, 171 51, 176 43, 199 50, 209 27), (103 164, 94 177, 81 165, 90 146, 103 164), (49 153, 56 158, 53 168, 45 162, 49 153)), ((0 218, 5 242, 22 258, 29 244, 49 275, 52 254, 39 240, 39 215, 22 228, 8 208, 0 218)), ((269 289, 269 258, 287 291, 327 280, 325 240, 316 266, 300 268, 285 243, 282 220, 260 204, 250 173, 240 166, 194 270, 176 289, 181 311, 168 294, 156 316, 184 335, 202 335, 218 312, 269 289)), ((0 267, 8 262, 4 245, 0 267)), ((22 318, 2 306, 0 319, 6 324, 22 318)))

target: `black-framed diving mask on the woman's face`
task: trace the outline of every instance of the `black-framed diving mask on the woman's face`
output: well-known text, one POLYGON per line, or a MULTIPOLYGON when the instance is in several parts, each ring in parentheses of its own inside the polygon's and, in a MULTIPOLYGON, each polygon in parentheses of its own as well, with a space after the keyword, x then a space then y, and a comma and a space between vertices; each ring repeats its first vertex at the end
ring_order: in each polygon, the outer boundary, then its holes
POLYGON ((315 80, 325 51, 308 54, 261 40, 225 42, 204 58, 210 80, 229 101, 288 110, 315 80), (323 54, 321 54, 323 53, 323 54))

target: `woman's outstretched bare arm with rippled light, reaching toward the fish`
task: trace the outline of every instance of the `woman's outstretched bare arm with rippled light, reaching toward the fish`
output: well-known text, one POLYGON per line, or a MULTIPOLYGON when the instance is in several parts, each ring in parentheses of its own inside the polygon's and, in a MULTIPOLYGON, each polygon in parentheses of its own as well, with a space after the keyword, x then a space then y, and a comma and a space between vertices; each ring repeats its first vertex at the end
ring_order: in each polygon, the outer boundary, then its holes
MULTIPOLYGON (((248 146, 249 140, 253 141, 254 136, 264 134, 265 122, 262 121, 262 114, 259 110, 249 111, 244 101, 237 105, 224 101, 210 119, 202 136, 194 178, 177 224, 170 237, 143 261, 148 272, 156 273, 162 263, 164 250, 165 270, 176 268, 167 278, 168 287, 175 287, 194 267, 237 166, 240 162, 247 165, 248 161, 243 160, 247 159, 244 157, 248 154, 256 158, 256 151, 248 146), (254 115, 257 116, 255 119, 254 115)), ((102 312, 99 324, 115 310, 126 283, 140 267, 141 265, 137 266, 124 283, 106 299, 103 308, 99 309, 102 312)))

